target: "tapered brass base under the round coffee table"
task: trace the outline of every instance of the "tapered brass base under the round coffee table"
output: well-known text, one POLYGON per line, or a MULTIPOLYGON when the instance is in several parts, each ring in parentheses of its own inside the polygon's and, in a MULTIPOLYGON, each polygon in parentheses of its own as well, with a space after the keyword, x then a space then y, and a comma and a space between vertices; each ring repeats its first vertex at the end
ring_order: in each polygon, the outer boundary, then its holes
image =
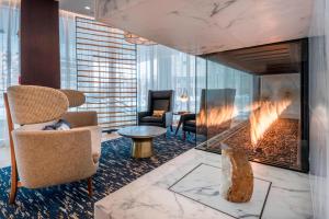
POLYGON ((154 154, 152 138, 133 138, 132 157, 150 158, 154 154))

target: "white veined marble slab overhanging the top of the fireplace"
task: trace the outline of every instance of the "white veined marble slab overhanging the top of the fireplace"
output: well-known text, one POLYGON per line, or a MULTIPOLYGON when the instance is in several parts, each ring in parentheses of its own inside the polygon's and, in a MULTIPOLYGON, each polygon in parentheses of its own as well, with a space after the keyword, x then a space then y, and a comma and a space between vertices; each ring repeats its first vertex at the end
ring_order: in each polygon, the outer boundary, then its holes
POLYGON ((95 19, 202 55, 308 36, 313 0, 95 0, 95 19))

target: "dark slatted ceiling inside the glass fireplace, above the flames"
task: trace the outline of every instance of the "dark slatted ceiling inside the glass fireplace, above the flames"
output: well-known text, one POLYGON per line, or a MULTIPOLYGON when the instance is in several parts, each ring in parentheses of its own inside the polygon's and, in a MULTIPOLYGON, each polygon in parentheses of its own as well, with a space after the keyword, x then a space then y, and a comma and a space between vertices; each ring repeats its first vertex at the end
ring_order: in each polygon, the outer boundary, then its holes
POLYGON ((299 73, 302 41, 220 51, 207 58, 258 76, 299 73))

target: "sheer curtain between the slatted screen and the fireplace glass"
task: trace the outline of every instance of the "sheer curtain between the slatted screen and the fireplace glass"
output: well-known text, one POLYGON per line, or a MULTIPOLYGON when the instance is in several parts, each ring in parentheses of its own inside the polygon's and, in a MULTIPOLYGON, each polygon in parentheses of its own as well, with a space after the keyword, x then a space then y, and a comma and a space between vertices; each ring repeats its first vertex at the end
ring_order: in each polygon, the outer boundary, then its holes
POLYGON ((166 46, 137 46, 138 111, 147 108, 149 90, 174 90, 174 111, 195 112, 195 61, 166 46))

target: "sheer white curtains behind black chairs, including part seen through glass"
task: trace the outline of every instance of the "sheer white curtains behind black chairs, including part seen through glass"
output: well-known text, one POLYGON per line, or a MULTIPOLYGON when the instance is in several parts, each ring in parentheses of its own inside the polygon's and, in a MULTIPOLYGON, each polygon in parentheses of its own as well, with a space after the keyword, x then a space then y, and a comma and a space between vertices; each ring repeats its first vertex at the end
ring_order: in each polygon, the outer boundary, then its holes
POLYGON ((236 89, 237 113, 252 102, 253 77, 224 65, 196 58, 166 46, 137 47, 138 111, 147 107, 148 90, 174 90, 174 111, 197 112, 202 89, 236 89), (188 93, 188 103, 180 101, 188 93))

